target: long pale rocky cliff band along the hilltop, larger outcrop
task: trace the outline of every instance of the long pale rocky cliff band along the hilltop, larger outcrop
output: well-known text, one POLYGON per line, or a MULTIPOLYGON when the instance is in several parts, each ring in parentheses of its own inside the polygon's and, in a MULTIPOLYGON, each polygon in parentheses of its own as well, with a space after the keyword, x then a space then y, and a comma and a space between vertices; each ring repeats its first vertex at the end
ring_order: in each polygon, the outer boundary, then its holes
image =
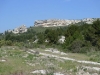
POLYGON ((34 26, 42 26, 42 27, 53 27, 53 26, 67 26, 70 24, 75 24, 79 22, 84 22, 87 24, 92 24, 97 18, 85 18, 79 20, 61 20, 61 19, 49 19, 49 20, 37 20, 34 23, 34 26))

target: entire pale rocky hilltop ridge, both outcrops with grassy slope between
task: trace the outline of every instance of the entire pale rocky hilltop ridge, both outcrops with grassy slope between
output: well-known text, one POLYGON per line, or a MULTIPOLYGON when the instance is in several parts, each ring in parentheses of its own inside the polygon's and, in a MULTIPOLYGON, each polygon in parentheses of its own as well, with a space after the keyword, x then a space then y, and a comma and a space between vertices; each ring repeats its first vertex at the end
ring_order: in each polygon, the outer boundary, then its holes
POLYGON ((8 32, 12 32, 14 34, 24 33, 27 30, 31 29, 36 32, 43 32, 46 29, 57 29, 64 28, 69 25, 83 25, 83 24, 93 24, 94 21, 100 18, 85 18, 79 20, 60 20, 60 19, 50 19, 50 20, 37 20, 34 22, 34 26, 30 26, 27 28, 25 25, 21 25, 13 30, 7 30, 8 32))

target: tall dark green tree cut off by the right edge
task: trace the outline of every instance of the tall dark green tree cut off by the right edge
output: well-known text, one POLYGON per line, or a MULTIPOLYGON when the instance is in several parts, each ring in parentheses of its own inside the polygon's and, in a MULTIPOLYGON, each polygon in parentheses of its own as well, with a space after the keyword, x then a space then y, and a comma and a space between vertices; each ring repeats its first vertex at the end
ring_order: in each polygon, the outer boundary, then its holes
POLYGON ((94 21, 91 26, 84 33, 86 41, 90 41, 92 46, 100 48, 100 20, 94 21))

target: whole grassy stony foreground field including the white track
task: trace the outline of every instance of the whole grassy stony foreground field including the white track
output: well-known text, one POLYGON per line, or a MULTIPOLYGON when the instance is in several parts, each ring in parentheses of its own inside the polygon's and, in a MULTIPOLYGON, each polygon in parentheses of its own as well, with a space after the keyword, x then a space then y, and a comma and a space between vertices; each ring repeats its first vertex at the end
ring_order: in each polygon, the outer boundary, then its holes
POLYGON ((1 75, 99 75, 100 63, 85 54, 64 53, 56 48, 0 48, 1 75))

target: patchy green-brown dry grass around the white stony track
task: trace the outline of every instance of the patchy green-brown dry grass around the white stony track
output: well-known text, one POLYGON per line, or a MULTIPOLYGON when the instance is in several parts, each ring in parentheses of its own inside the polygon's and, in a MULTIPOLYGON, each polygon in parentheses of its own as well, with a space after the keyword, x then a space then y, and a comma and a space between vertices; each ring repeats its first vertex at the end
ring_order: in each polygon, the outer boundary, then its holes
MULTIPOLYGON (((88 60, 89 57, 83 54, 67 53, 68 55, 60 55, 57 53, 46 52, 44 49, 34 49, 35 51, 54 54, 57 56, 65 56, 74 59, 88 60)), ((48 70, 46 75, 53 75, 55 72, 63 74, 75 75, 82 66, 95 66, 90 64, 79 64, 75 61, 58 59, 55 57, 36 55, 27 53, 20 49, 0 49, 0 60, 5 59, 5 62, 0 62, 0 75, 33 75, 35 70, 48 70), (79 67, 79 68, 77 68, 79 67)), ((84 69, 86 70, 86 69, 84 69)), ((91 71, 90 71, 91 72, 91 71)), ((95 71, 94 71, 95 72, 95 71)), ((41 74, 36 74, 41 75, 41 74)))

